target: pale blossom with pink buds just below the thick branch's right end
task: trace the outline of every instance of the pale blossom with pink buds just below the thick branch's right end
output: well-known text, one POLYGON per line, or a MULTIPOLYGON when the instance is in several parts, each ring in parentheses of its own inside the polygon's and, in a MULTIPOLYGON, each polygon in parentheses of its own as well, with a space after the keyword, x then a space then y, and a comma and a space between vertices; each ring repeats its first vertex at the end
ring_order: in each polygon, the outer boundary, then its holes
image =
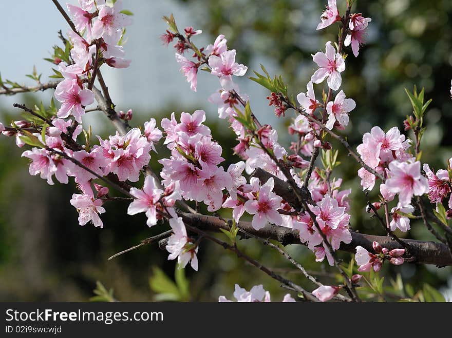
POLYGON ((360 266, 358 271, 366 272, 373 269, 373 271, 380 271, 384 261, 389 261, 393 265, 401 265, 404 262, 403 255, 405 249, 383 248, 380 243, 373 242, 372 248, 375 253, 370 253, 361 245, 356 247, 355 261, 360 266))

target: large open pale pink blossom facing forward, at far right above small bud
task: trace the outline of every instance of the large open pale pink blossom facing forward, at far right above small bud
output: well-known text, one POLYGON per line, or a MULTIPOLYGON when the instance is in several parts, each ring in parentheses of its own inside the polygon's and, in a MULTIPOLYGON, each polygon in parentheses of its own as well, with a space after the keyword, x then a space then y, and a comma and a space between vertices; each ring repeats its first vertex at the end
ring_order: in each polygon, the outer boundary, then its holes
POLYGON ((386 180, 389 191, 399 194, 402 207, 410 204, 411 197, 421 196, 428 190, 427 179, 421 175, 421 163, 392 161, 389 163, 390 176, 386 180))

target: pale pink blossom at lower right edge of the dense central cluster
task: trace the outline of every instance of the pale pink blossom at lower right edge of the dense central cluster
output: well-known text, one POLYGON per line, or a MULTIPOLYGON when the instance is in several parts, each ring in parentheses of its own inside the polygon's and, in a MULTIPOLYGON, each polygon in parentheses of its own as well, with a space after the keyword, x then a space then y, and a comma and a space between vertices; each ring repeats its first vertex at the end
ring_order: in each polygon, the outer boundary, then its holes
POLYGON ((223 204, 223 188, 231 189, 231 176, 224 171, 223 167, 207 167, 197 170, 199 174, 196 201, 208 205, 207 210, 216 211, 223 204))

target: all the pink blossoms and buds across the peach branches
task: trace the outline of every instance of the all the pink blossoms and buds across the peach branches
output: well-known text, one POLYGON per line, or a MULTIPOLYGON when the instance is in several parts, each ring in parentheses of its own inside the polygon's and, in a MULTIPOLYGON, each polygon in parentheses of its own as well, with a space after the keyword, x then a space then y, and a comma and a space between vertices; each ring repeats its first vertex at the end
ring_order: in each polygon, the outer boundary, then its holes
MULTIPOLYGON (((56 116, 45 119, 42 133, 22 132, 36 127, 27 121, 15 121, 8 130, 0 123, 0 132, 16 136, 19 147, 25 144, 24 136, 27 135, 42 144, 23 153, 31 160, 30 174, 39 174, 48 184, 53 184, 53 176, 64 184, 68 183, 69 177, 74 177, 81 193, 73 194, 70 203, 79 212, 79 224, 92 222, 102 228, 99 215, 105 212, 103 203, 110 200, 110 196, 108 188, 93 180, 114 176, 117 182, 127 185, 138 182, 149 164, 150 152, 156 152, 155 144, 165 137, 164 145, 171 155, 158 161, 163 166, 160 172, 162 181, 145 175, 141 188, 131 187, 128 196, 133 201, 127 213, 145 213, 149 227, 156 225, 163 217, 169 219, 173 233, 166 245, 170 253, 168 260, 177 259, 181 268, 191 263, 192 268, 198 270, 197 252, 202 236, 198 239, 190 237, 183 219, 174 208, 177 201, 186 200, 202 202, 210 212, 220 208, 232 209, 237 223, 247 212, 252 215, 251 225, 256 230, 268 223, 297 230, 300 241, 314 252, 317 262, 323 262, 326 257, 328 263, 334 265, 333 252, 340 248, 341 243, 352 241, 348 199, 351 189, 341 187, 341 178, 331 177, 335 155, 328 164, 323 162, 323 169, 313 169, 311 165, 318 154, 317 148, 322 148, 323 154, 332 154, 331 144, 324 141, 326 132, 323 129, 328 129, 327 132, 343 130, 349 124, 349 113, 356 104, 341 89, 341 73, 346 68, 346 55, 342 48, 351 45, 357 57, 371 19, 359 13, 350 14, 350 8, 346 15, 341 16, 336 1, 328 0, 317 29, 341 22, 342 36, 338 44, 328 41, 325 52, 312 55, 318 68, 307 83, 306 92, 296 95, 299 108, 294 107, 295 103, 282 93, 272 92, 267 97, 278 117, 285 116, 290 107, 300 113, 289 125, 289 133, 297 136, 297 141, 289 149, 292 153, 289 153, 278 143, 277 131, 269 125, 261 125, 251 113, 248 95, 240 93, 234 76, 243 76, 248 68, 235 61, 236 51, 228 50, 225 36, 220 34, 213 44, 198 49, 191 38, 201 34, 201 30, 187 27, 180 33, 174 18, 165 17, 170 30, 161 39, 166 45, 176 40, 176 61, 191 89, 197 89, 199 69, 208 70, 218 78, 219 89, 210 95, 208 101, 216 106, 219 118, 228 120, 238 141, 234 152, 243 160, 225 170, 221 166, 223 149, 214 140, 210 128, 204 125, 206 116, 203 110, 196 110, 193 114, 182 112, 179 118, 173 112, 171 118, 161 121, 163 132, 156 127, 156 120, 151 118, 144 124, 143 130, 133 128, 124 133, 116 132, 105 140, 97 136, 99 145, 90 146, 89 141, 84 146, 77 143, 77 136, 83 131, 85 107, 92 104, 95 98, 91 89, 98 68, 102 64, 116 68, 130 64, 129 60, 124 59, 122 39, 124 27, 131 24, 129 16, 121 12, 121 1, 111 6, 104 0, 79 0, 79 3, 80 7, 67 5, 78 31, 67 34, 72 47, 69 61, 54 60, 63 77, 54 93, 61 103, 56 116), (185 53, 189 50, 194 54, 186 57, 185 53), (323 94, 321 102, 316 99, 314 84, 320 85, 325 79, 328 94, 323 94), (303 156, 313 156, 312 163, 303 156), (300 191, 309 191, 303 201, 307 207, 296 209, 276 194, 275 181, 279 180, 273 177, 266 182, 251 177, 247 182, 243 172, 251 174, 256 169, 263 169, 289 182, 292 187, 297 185, 300 191)), ((132 116, 131 110, 126 113, 119 111, 118 114, 127 128, 132 116)), ((407 120, 405 125, 409 129, 414 123, 416 121, 407 120)), ((452 217, 452 158, 447 170, 441 169, 436 173, 425 164, 426 178, 421 173, 421 163, 411 154, 410 147, 411 141, 397 127, 387 132, 373 127, 364 134, 363 143, 357 147, 366 165, 358 171, 363 190, 372 190, 379 178, 383 177, 385 181, 380 184, 381 201, 373 206, 378 209, 398 195, 398 204, 391 209, 388 225, 392 231, 399 229, 406 232, 410 229, 409 217, 414 211, 411 199, 426 192, 431 203, 437 204, 450 195, 447 216, 452 217)), ((373 242, 373 250, 375 253, 361 246, 356 247, 355 260, 360 272, 379 271, 385 260, 393 265, 404 262, 402 256, 405 249, 389 250, 373 242)), ((352 284, 357 284, 360 278, 361 275, 353 275, 352 284)), ((321 285, 312 294, 325 302, 333 299, 342 287, 321 285)), ((238 302, 270 302, 270 294, 262 285, 247 291, 236 284, 234 297, 238 302)), ((294 301, 289 294, 283 300, 294 301)), ((220 296, 219 302, 231 301, 220 296)))

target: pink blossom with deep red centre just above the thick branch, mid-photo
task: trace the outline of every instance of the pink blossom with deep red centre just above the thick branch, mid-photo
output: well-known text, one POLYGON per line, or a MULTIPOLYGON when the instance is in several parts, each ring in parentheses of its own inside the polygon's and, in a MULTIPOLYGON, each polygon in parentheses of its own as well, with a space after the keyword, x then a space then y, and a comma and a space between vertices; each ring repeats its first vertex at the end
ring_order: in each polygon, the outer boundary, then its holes
POLYGON ((256 230, 263 228, 267 222, 276 225, 283 223, 283 218, 276 211, 281 206, 282 198, 272 191, 274 186, 275 182, 273 177, 271 177, 266 184, 260 187, 256 200, 248 200, 245 203, 245 210, 249 214, 254 215, 251 225, 256 230))

